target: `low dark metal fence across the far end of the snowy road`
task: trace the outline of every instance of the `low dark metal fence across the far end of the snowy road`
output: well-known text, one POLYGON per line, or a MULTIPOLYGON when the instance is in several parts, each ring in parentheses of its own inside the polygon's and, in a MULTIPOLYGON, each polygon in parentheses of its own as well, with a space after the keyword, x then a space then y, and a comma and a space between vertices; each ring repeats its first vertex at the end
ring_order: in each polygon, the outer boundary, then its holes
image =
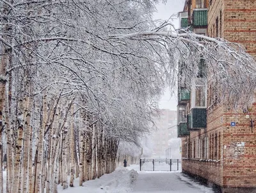
POLYGON ((140 171, 179 171, 180 159, 141 158, 140 171))

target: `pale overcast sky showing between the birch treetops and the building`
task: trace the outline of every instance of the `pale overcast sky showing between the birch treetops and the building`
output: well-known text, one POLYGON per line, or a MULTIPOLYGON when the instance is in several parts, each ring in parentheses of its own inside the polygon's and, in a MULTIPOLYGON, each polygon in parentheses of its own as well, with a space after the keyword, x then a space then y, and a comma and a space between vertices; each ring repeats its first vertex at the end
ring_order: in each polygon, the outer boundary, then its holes
MULTIPOLYGON (((185 0, 168 0, 166 4, 157 4, 157 12, 154 14, 155 19, 167 20, 173 14, 183 11, 185 0)), ((173 24, 176 28, 179 27, 178 19, 173 20, 173 24)), ((168 90, 166 90, 164 96, 162 97, 160 103, 160 108, 177 110, 177 96, 170 96, 168 90)))

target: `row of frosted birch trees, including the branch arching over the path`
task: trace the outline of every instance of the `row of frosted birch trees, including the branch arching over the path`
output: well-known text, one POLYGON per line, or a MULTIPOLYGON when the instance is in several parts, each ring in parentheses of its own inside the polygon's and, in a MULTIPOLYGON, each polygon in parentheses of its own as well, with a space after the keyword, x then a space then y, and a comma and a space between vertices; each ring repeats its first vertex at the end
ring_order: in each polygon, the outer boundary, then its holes
MULTIPOLYGON (((187 85, 204 57, 224 94, 241 101, 242 89, 242 101, 251 99, 253 59, 221 39, 156 27, 157 2, 0 0, 6 192, 57 192, 59 183, 66 189, 75 177, 82 185, 113 171, 120 142, 140 146, 150 132, 164 86, 175 89, 178 61, 187 85)), ((0 182, 3 193, 1 170, 0 182)))

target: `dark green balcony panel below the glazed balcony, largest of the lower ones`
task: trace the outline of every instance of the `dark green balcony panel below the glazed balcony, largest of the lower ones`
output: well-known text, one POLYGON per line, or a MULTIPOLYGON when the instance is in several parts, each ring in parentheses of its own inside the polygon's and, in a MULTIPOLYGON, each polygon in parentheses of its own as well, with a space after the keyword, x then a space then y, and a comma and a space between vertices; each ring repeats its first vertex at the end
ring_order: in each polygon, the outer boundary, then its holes
POLYGON ((191 109, 191 125, 190 129, 203 129, 207 126, 206 108, 191 109))

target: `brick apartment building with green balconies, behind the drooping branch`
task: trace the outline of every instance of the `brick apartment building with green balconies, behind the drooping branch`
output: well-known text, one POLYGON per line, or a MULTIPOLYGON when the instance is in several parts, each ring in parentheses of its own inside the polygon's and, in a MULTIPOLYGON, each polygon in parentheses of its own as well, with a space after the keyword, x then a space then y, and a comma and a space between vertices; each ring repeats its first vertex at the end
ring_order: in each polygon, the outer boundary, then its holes
MULTIPOLYGON (((198 34, 240 43, 253 57, 255 24, 255 0, 187 0, 180 12, 180 27, 189 25, 198 34)), ((187 90, 179 85, 182 172, 220 192, 256 192, 256 103, 232 111, 218 103, 214 92, 204 90, 204 84, 197 86, 187 90)))

